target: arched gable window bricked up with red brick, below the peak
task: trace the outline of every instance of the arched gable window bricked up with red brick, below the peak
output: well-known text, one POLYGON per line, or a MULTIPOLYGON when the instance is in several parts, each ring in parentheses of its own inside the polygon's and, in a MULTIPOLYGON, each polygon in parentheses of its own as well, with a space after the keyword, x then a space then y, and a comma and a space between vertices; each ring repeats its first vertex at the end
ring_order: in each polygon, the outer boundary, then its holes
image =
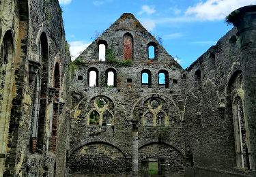
POLYGON ((124 44, 124 59, 132 60, 133 40, 132 40, 132 35, 130 33, 126 33, 124 35, 123 44, 124 44))

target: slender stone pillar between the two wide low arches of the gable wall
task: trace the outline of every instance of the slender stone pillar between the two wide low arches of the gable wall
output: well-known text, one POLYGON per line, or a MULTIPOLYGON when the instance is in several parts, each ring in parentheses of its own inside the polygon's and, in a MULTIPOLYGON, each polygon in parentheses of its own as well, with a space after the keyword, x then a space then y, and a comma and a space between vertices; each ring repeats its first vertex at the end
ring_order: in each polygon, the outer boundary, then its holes
POLYGON ((138 122, 132 121, 132 176, 139 176, 138 174, 138 122))

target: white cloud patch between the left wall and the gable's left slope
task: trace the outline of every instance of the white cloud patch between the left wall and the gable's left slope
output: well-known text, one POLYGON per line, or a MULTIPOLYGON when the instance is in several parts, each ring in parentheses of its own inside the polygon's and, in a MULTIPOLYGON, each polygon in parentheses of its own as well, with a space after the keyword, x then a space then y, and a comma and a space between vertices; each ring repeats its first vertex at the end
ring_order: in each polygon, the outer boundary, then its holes
POLYGON ((76 57, 79 57, 79 54, 83 52, 91 43, 86 43, 83 41, 74 41, 69 42, 70 44, 70 54, 71 54, 71 60, 74 61, 76 57))

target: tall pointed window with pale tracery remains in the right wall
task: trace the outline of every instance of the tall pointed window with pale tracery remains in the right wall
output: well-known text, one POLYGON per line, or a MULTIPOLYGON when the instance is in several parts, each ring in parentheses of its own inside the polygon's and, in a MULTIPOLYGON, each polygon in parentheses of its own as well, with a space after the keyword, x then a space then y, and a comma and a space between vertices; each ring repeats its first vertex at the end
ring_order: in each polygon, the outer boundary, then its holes
MULTIPOLYGON (((242 71, 237 70, 231 76, 227 86, 227 111, 231 112, 236 147, 236 165, 250 170, 251 150, 248 137, 248 125, 244 114, 244 85, 242 71)), ((229 115, 229 114, 228 114, 229 115)))

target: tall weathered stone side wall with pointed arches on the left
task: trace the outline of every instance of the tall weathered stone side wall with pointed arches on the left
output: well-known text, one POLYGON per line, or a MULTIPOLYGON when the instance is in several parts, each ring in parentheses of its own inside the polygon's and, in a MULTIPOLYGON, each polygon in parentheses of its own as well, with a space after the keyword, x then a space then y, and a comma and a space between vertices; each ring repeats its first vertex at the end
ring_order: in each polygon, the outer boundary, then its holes
POLYGON ((69 127, 68 120, 66 121, 69 112, 66 112, 66 108, 70 108, 70 54, 65 41, 61 8, 58 1, 36 0, 6 0, 0 6, 2 49, 5 41, 6 46, 10 46, 8 61, 4 61, 1 51, 1 71, 5 75, 1 76, 1 83, 4 85, 1 96, 4 97, 1 101, 0 176, 63 176, 66 172, 66 153, 63 152, 67 149, 69 127), (54 78, 56 63, 59 65, 59 76, 54 78), (40 103, 39 115, 45 115, 45 118, 39 120, 44 122, 40 127, 42 144, 40 148, 33 146, 34 150, 37 149, 35 152, 29 150, 36 82, 32 77, 35 70, 31 65, 38 68, 38 76, 42 81, 38 104, 40 103), (49 131, 53 106, 48 101, 48 88, 55 87, 54 80, 57 79, 59 95, 55 105, 58 107, 61 102, 66 103, 66 107, 55 116, 58 124, 56 140, 49 131), (55 152, 49 150, 55 144, 55 152))

